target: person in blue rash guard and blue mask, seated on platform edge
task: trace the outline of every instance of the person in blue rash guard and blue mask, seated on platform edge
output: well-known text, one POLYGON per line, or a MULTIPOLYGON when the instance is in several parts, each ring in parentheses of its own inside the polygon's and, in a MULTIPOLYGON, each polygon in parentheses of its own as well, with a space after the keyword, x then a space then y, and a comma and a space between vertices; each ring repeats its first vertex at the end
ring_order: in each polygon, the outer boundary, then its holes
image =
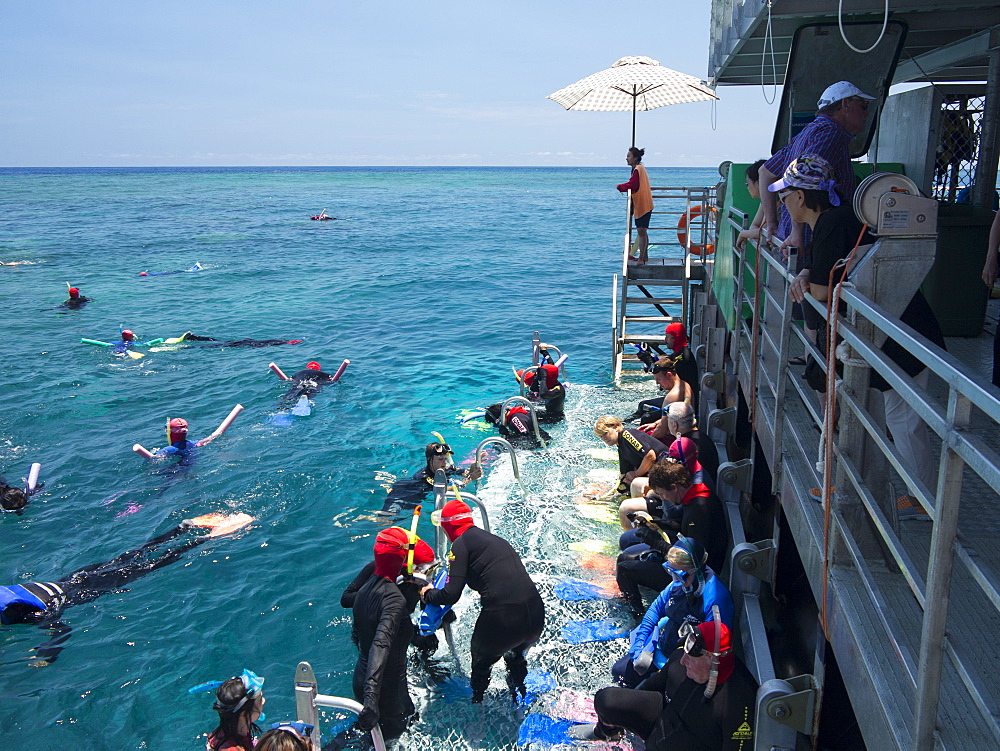
POLYGON ((704 545, 690 537, 678 537, 666 558, 663 567, 673 581, 632 632, 628 653, 611 668, 615 680, 628 688, 635 688, 647 674, 652 675, 651 670, 655 673, 666 665, 670 653, 680 646, 681 626, 712 620, 713 605, 718 605, 724 624, 731 627, 733 623, 733 598, 708 567, 704 545))

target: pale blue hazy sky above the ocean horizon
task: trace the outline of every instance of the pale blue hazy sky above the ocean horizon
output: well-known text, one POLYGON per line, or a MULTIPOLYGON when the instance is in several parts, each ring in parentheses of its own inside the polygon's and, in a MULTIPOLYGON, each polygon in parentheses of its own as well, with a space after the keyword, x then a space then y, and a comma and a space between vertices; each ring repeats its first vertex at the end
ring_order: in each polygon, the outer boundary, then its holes
MULTIPOLYGON (((707 78, 710 7, 7 0, 0 166, 618 166, 631 113, 545 97, 626 55, 707 78)), ((767 156, 780 90, 718 94, 638 113, 644 163, 767 156)))

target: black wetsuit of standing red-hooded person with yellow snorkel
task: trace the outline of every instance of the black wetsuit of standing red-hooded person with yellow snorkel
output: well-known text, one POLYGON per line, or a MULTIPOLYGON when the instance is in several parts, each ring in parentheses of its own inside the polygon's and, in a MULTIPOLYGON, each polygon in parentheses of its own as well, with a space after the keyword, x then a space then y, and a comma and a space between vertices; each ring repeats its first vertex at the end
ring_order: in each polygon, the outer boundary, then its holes
POLYGON ((355 595, 353 611, 354 698, 366 708, 377 707, 382 734, 398 738, 415 711, 406 690, 406 649, 413 637, 406 597, 395 583, 372 575, 355 595))

